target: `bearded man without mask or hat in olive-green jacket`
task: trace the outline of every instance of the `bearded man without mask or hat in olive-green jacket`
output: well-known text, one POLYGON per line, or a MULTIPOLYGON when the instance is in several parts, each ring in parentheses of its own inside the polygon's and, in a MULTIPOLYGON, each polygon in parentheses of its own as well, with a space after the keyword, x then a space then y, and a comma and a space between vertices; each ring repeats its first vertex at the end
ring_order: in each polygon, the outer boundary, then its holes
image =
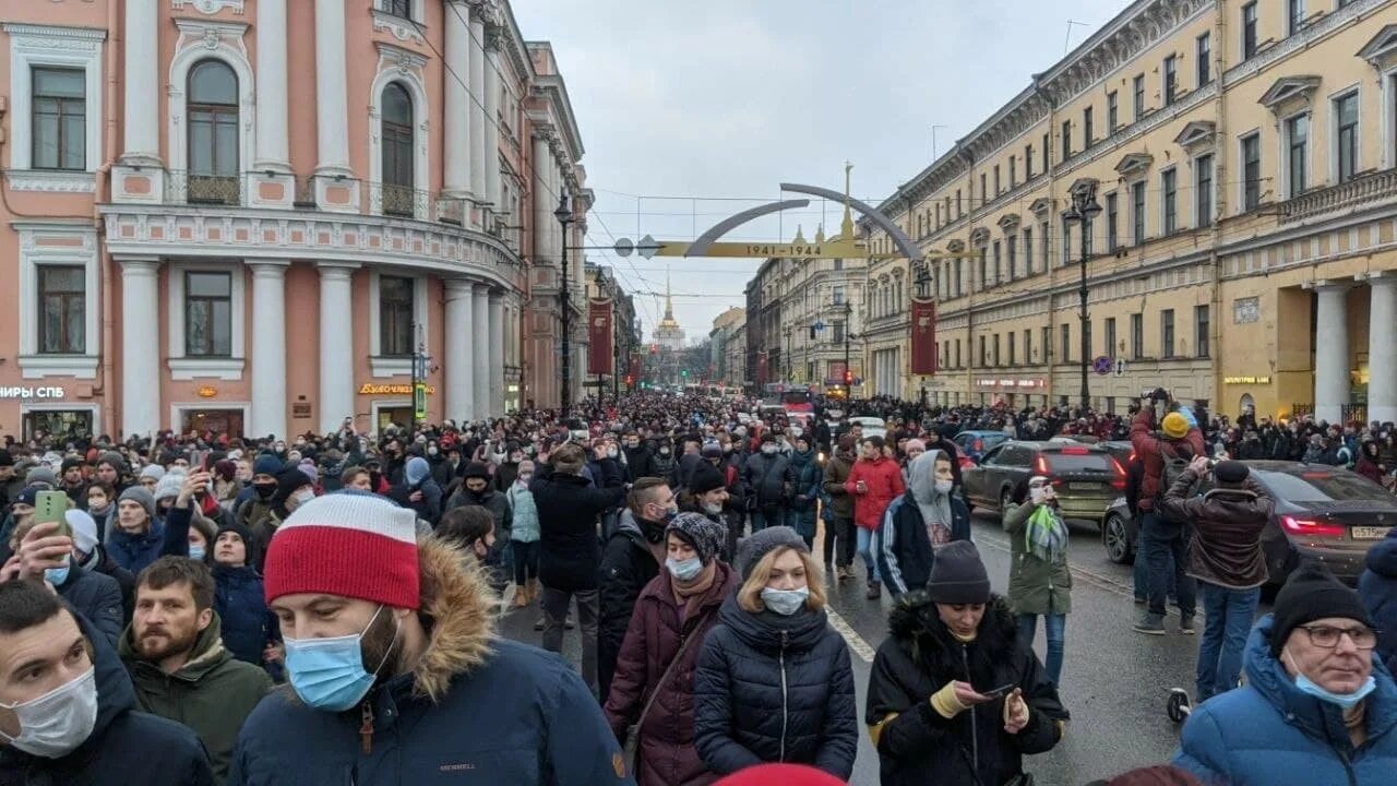
POLYGON ((137 705, 193 729, 222 782, 237 730, 271 691, 271 677, 224 648, 214 594, 203 562, 156 559, 137 579, 136 617, 117 652, 137 705))

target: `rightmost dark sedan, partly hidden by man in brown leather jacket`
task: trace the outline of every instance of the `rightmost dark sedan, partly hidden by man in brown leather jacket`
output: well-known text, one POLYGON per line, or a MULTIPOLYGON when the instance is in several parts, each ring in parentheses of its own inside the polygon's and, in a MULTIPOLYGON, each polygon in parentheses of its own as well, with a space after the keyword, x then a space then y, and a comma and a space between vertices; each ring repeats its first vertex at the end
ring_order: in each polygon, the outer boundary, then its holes
MULTIPOLYGON (((1301 559, 1324 562, 1340 579, 1356 583, 1368 548, 1397 526, 1397 496, 1343 467, 1298 462, 1245 462, 1275 499, 1261 531, 1267 585, 1285 583, 1301 559)), ((1210 484, 1200 484, 1206 494, 1210 484)), ((1139 527, 1125 498, 1112 502, 1101 543, 1112 562, 1134 561, 1139 527)))

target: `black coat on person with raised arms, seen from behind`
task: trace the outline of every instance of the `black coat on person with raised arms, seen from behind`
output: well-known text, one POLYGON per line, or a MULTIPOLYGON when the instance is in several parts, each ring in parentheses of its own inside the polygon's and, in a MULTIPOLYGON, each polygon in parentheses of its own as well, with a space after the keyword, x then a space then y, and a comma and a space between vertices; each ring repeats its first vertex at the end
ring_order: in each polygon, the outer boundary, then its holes
POLYGON ((581 476, 553 473, 539 467, 529 491, 538 509, 538 580, 564 592, 597 589, 602 547, 597 538, 597 516, 626 496, 615 459, 601 462, 602 481, 592 487, 581 476))

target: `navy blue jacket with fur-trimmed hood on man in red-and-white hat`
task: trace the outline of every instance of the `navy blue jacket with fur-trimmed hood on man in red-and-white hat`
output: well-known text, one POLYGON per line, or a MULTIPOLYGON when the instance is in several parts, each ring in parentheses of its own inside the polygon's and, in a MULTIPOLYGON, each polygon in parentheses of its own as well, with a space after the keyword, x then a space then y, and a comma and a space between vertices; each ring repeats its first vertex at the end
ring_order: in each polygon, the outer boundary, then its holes
POLYGON ((418 554, 429 642, 414 671, 346 712, 272 692, 243 724, 228 786, 634 786, 577 673, 496 638, 495 597, 474 561, 430 538, 418 554))

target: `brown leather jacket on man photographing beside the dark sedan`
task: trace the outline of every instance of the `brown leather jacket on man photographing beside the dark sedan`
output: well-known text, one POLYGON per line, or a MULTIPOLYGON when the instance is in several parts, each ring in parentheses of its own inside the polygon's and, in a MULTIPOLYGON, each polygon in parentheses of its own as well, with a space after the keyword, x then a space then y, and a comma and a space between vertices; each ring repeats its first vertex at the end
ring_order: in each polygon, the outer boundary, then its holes
POLYGON ((1261 530, 1271 520, 1275 502, 1255 480, 1243 488, 1214 488, 1190 496, 1199 476, 1185 470, 1161 501, 1171 519, 1193 527, 1187 573, 1227 589, 1252 589, 1266 583, 1261 530))

